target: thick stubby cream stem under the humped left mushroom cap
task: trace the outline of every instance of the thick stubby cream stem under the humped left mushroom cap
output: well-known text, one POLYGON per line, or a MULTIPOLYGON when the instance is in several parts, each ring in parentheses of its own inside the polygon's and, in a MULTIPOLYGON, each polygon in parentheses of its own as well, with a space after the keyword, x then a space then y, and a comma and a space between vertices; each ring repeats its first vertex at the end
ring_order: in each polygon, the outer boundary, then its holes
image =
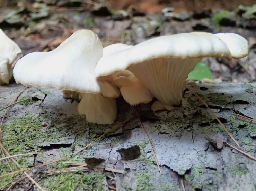
POLYGON ((78 112, 85 115, 89 123, 112 124, 117 115, 116 100, 101 94, 84 93, 78 104, 78 112))

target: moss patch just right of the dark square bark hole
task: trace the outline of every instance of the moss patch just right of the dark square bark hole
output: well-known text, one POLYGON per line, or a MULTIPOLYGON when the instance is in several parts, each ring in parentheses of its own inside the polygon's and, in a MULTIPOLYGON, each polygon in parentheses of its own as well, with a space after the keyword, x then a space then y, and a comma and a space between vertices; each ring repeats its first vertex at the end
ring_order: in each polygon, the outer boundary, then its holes
POLYGON ((147 151, 150 148, 148 139, 144 139, 143 141, 134 142, 134 144, 140 147, 141 155, 138 159, 141 162, 146 163, 150 168, 153 168, 153 163, 155 161, 153 157, 153 153, 151 152, 149 156, 147 156, 147 151))

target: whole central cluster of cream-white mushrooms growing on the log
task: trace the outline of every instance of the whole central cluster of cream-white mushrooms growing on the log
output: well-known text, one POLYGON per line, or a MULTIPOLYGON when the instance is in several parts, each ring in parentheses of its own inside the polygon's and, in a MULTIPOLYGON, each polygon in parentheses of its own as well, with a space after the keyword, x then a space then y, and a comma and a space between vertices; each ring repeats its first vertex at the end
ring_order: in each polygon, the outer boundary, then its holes
POLYGON ((248 42, 233 33, 205 32, 160 36, 135 46, 112 44, 103 48, 90 30, 79 30, 50 52, 21 58, 13 74, 17 83, 63 90, 78 99, 78 112, 97 124, 114 123, 115 98, 130 105, 158 101, 153 111, 171 110, 182 99, 188 74, 204 57, 242 58, 248 42))

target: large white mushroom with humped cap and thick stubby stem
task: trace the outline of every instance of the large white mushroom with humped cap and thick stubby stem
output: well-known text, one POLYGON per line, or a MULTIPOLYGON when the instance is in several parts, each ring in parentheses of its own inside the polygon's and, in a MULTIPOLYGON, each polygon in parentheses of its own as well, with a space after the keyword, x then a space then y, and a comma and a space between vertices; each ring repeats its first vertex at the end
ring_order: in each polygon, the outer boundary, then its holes
POLYGON ((14 78, 24 85, 82 93, 79 114, 91 123, 110 124, 116 118, 115 97, 120 92, 113 84, 96 80, 94 70, 102 56, 98 36, 79 30, 50 52, 33 52, 21 58, 14 67, 14 78))

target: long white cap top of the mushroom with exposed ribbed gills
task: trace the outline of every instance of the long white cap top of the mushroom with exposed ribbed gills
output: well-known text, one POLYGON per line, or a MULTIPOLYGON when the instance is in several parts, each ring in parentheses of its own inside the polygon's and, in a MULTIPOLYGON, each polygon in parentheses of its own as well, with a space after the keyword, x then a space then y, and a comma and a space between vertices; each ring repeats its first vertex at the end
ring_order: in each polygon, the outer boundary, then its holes
POLYGON ((204 58, 225 57, 232 59, 226 43, 219 37, 205 32, 191 32, 160 36, 144 41, 125 50, 101 58, 95 69, 96 77, 126 70, 133 64, 154 58, 204 58), (103 66, 106 67, 103 67, 103 66))

